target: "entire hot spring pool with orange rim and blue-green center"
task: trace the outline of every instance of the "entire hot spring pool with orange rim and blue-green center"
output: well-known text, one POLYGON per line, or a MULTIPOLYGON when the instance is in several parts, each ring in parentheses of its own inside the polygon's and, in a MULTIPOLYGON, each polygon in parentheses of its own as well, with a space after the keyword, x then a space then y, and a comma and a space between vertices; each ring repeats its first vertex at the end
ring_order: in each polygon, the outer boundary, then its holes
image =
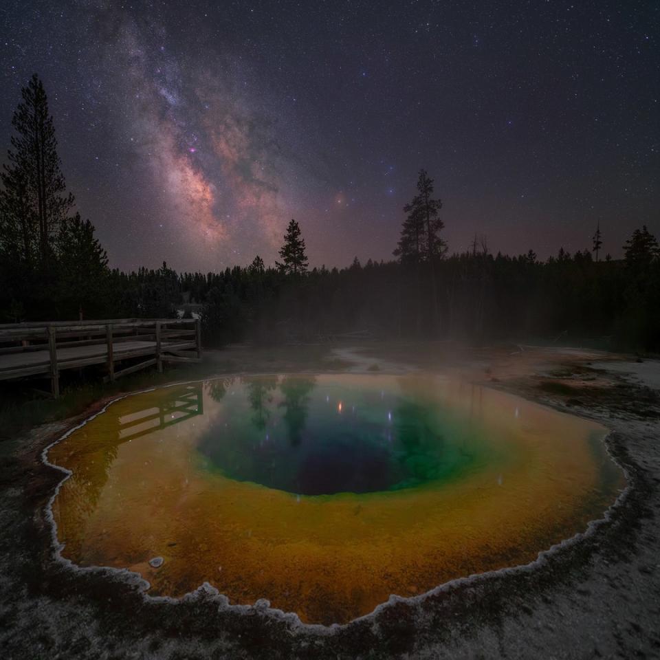
POLYGON ((606 432, 437 376, 210 380, 115 401, 53 445, 72 474, 52 512, 65 558, 152 595, 209 582, 344 623, 584 531, 624 486, 606 432))

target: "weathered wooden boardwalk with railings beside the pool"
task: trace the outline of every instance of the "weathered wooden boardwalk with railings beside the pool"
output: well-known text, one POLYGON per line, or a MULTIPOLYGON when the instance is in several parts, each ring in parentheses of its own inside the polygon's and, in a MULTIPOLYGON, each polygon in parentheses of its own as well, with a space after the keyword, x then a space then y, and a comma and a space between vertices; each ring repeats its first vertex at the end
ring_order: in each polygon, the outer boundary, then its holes
POLYGON ((199 319, 108 319, 0 325, 0 380, 47 376, 59 395, 59 373, 104 364, 104 381, 165 362, 199 362, 199 319), (136 362, 136 358, 147 358, 136 362), (115 369, 119 366, 120 369, 115 369))

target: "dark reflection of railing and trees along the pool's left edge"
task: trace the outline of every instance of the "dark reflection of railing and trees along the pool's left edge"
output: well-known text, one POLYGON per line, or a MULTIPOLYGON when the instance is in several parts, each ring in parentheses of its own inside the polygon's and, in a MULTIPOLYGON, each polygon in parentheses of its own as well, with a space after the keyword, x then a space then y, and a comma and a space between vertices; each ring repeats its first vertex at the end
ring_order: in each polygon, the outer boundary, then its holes
MULTIPOLYGON (((96 421, 80 428, 54 450, 52 462, 64 464, 73 472, 54 503, 58 538, 67 545, 67 556, 80 553, 85 521, 96 510, 120 445, 203 415, 201 384, 163 388, 157 393, 157 399, 155 395, 146 397, 146 408, 142 410, 119 414, 116 411, 120 408, 109 406, 96 421), (126 417, 132 419, 126 420, 126 417), (67 451, 73 456, 72 461, 57 458, 60 452, 66 455, 67 451)), ((143 398, 128 400, 140 402, 143 398)))

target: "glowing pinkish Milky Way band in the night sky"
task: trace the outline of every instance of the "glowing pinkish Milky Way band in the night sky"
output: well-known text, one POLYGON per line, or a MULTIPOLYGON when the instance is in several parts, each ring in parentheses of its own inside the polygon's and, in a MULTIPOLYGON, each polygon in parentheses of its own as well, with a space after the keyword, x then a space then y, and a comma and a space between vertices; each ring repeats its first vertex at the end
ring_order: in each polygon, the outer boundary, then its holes
POLYGON ((116 30, 104 57, 126 102, 117 139, 130 134, 133 158, 151 173, 157 228, 173 236, 175 261, 192 255, 219 267, 272 256, 294 206, 285 191, 295 196, 296 186, 263 109, 268 91, 251 98, 220 56, 211 67, 180 65, 166 31, 129 14, 116 30))

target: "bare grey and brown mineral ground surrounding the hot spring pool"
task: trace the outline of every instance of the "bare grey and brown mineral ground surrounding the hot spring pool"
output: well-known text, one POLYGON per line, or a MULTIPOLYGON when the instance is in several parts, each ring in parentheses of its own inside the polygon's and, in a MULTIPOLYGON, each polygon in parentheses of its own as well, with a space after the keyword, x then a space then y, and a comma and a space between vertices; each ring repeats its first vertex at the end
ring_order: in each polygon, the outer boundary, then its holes
POLYGON ((207 353, 215 373, 437 371, 601 421, 628 489, 588 533, 535 564, 391 599, 346 626, 303 626, 200 589, 145 599, 137 580, 56 560, 45 446, 99 410, 0 443, 0 657, 660 657, 660 363, 577 349, 364 344, 207 353))

